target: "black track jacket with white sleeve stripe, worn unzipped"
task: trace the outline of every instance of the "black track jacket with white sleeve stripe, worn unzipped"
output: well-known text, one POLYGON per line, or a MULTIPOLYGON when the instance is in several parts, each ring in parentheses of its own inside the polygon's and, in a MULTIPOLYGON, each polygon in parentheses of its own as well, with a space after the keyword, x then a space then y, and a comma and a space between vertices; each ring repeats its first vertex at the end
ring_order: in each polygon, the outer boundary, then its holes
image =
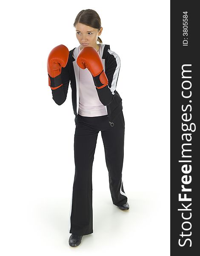
MULTIPOLYGON (((115 117, 122 110, 122 99, 116 91, 117 80, 120 71, 120 58, 110 50, 107 44, 99 44, 101 47, 101 58, 103 62, 103 70, 106 73, 109 84, 102 89, 97 89, 100 102, 107 108, 109 123, 114 125, 115 117)), ((61 69, 61 78, 63 85, 52 90, 52 96, 57 105, 63 104, 67 97, 69 81, 72 93, 72 105, 75 115, 75 124, 77 124, 77 113, 79 108, 79 66, 76 59, 78 56, 78 47, 69 51, 69 59, 66 67, 61 69)), ((95 86, 95 85, 94 85, 95 86)))

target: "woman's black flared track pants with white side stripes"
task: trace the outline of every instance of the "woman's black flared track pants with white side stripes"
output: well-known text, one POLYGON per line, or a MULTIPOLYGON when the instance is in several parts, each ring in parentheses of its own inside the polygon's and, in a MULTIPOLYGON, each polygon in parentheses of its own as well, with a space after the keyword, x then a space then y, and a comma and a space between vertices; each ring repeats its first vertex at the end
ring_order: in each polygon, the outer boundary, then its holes
POLYGON ((109 124, 108 116, 80 116, 74 134, 75 175, 69 216, 69 233, 93 233, 92 164, 97 136, 101 131, 109 171, 109 186, 114 205, 127 202, 123 189, 122 168, 124 156, 125 122, 123 111, 109 124))

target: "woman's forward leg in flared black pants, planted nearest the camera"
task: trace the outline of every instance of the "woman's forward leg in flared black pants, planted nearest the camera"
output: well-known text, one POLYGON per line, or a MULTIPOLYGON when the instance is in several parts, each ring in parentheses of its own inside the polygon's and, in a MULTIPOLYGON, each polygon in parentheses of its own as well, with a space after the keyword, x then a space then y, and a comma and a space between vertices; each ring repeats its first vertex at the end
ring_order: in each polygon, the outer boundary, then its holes
POLYGON ((78 115, 74 134, 75 175, 71 198, 69 233, 93 233, 92 216, 92 165, 98 131, 93 118, 78 115))

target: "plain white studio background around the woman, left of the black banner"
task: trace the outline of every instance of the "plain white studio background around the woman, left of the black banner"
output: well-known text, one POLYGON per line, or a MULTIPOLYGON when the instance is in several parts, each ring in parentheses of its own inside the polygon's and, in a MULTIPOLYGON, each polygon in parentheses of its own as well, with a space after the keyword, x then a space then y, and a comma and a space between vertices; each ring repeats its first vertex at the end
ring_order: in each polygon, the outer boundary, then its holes
POLYGON ((169 19, 166 0, 1 4, 1 255, 170 255, 169 19), (71 87, 58 106, 46 63, 55 46, 79 46, 73 23, 82 9, 97 11, 100 38, 121 60, 117 91, 123 99, 123 185, 130 209, 123 212, 112 204, 99 133, 92 177, 94 233, 72 248, 71 87))

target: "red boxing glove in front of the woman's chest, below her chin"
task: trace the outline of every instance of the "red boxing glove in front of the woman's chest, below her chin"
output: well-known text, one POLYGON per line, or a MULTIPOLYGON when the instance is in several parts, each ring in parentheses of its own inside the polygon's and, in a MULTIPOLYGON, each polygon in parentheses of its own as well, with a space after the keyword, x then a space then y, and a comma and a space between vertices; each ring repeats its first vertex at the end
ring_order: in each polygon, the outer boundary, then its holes
POLYGON ((105 87, 109 83, 103 70, 100 55, 94 47, 84 47, 77 56, 77 64, 80 68, 89 70, 93 77, 94 85, 98 89, 105 87))

